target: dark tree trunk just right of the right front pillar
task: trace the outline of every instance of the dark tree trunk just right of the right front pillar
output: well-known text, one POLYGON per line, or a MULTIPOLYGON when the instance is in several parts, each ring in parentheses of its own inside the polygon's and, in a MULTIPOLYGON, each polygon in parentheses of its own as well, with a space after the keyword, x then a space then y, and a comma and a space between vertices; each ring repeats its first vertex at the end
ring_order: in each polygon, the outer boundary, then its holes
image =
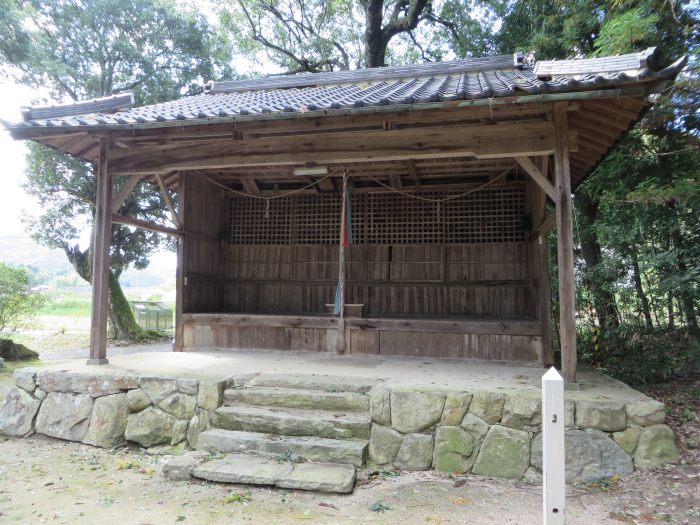
POLYGON ((581 228, 581 255, 586 263, 584 281, 591 292, 593 308, 600 328, 616 327, 620 325, 620 319, 615 294, 609 287, 611 283, 601 283, 601 276, 595 275, 595 270, 602 259, 602 250, 594 228, 598 217, 598 204, 583 192, 577 195, 577 202, 584 223, 581 228))

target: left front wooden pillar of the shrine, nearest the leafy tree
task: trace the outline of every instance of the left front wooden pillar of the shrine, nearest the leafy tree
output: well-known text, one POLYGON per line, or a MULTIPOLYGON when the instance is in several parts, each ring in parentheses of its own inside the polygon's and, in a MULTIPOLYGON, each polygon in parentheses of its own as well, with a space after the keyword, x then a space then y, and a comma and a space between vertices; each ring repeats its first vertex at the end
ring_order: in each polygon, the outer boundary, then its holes
POLYGON ((89 365, 106 365, 107 303, 109 301, 109 249, 112 243, 112 174, 109 170, 109 143, 100 139, 95 197, 95 238, 92 260, 92 318, 90 323, 89 365))

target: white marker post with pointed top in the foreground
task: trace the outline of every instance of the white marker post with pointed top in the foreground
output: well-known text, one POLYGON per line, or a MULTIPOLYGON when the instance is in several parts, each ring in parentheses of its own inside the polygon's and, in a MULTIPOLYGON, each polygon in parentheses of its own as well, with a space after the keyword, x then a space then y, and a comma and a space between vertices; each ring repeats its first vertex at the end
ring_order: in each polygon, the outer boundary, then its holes
POLYGON ((542 478, 544 525, 564 524, 564 380, 552 367, 542 376, 542 478))

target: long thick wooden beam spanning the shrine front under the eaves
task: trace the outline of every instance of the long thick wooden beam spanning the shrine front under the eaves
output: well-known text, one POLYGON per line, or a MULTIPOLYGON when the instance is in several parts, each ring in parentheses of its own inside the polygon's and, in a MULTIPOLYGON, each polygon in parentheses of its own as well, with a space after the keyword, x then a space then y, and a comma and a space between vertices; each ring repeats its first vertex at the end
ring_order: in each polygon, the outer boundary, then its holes
MULTIPOLYGON (((569 137, 576 144, 575 132, 569 137)), ((117 153, 115 173, 150 174, 185 169, 215 169, 308 162, 344 164, 420 158, 507 158, 548 155, 554 151, 551 122, 495 126, 458 126, 321 136, 215 141, 182 148, 165 145, 117 153)))

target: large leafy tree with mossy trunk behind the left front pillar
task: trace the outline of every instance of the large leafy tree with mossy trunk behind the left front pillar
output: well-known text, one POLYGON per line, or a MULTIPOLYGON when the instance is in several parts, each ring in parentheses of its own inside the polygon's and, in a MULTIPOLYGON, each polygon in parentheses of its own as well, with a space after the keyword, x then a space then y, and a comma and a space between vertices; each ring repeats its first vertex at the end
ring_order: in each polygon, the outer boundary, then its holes
MULTIPOLYGON (((225 39, 203 15, 183 10, 173 0, 32 0, 10 7, 11 16, 2 14, 0 19, 15 37, 0 40, 0 57, 13 66, 17 80, 48 88, 54 100, 133 91, 137 103, 153 103, 196 93, 204 80, 228 74, 225 39)), ((77 240, 79 230, 93 223, 93 167, 32 144, 27 178, 27 191, 43 209, 40 216, 29 219, 34 238, 62 249, 78 274, 90 281, 92 246, 81 249, 77 240)), ((165 220, 165 210, 157 189, 142 184, 119 212, 165 220)), ((109 309, 113 337, 133 339, 141 332, 119 275, 130 265, 144 268, 149 255, 164 243, 168 245, 157 234, 113 226, 109 309)))

